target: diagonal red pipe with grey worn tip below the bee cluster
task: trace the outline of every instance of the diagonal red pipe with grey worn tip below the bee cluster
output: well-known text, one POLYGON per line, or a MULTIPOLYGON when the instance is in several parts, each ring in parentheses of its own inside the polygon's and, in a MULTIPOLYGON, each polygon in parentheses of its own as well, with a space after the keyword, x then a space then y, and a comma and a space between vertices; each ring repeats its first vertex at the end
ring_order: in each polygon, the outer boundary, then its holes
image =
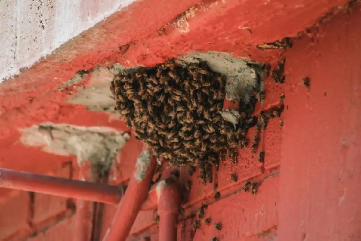
POLYGON ((114 219, 106 231, 103 241, 124 241, 127 238, 147 197, 156 166, 156 158, 151 156, 149 150, 144 150, 139 155, 127 191, 118 205, 114 219))

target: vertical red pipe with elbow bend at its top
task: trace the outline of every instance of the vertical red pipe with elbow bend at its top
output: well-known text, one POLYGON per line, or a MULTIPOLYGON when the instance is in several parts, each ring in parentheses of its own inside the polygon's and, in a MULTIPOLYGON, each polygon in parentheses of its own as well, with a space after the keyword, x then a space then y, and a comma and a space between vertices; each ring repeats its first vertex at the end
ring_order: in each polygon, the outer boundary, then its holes
POLYGON ((159 241, 177 241, 177 224, 181 191, 177 182, 171 178, 160 181, 149 191, 142 210, 152 210, 158 206, 159 241))

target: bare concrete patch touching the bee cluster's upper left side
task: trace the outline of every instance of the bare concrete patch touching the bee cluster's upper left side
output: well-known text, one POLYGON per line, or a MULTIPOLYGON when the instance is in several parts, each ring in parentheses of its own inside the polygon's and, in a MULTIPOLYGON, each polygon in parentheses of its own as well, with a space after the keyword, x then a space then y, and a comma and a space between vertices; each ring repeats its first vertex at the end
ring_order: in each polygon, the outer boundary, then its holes
MULTIPOLYGON (((118 68, 121 68, 121 66, 118 66, 118 68)), ((80 89, 77 94, 66 100, 66 102, 87 106, 89 111, 115 113, 114 97, 109 89, 110 82, 114 77, 111 71, 102 67, 93 70, 89 85, 85 89, 80 89)))

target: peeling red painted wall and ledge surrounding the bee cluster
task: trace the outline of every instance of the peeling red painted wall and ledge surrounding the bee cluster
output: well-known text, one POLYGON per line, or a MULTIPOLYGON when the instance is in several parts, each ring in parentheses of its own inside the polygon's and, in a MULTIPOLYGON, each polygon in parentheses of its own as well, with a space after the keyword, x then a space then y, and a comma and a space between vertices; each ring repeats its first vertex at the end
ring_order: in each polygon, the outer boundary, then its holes
MULTIPOLYGON (((65 104, 64 99, 71 93, 53 90, 79 69, 115 60, 125 65, 151 65, 190 50, 228 51, 273 66, 286 57, 286 83, 266 79, 267 99, 258 107, 270 108, 278 104, 281 93, 286 96, 284 126, 280 126, 280 119, 273 119, 262 136, 264 165, 249 150, 242 150, 238 164, 222 163, 215 182, 205 186, 200 184, 197 173, 188 177, 187 169, 182 168, 183 185, 188 178, 193 184, 184 204, 185 216, 196 212, 202 201, 207 202, 205 216, 221 221, 223 228, 218 232, 213 226, 202 225, 193 233, 192 219, 181 218, 178 240, 210 240, 213 236, 240 241, 361 240, 361 195, 357 191, 361 183, 361 5, 332 8, 345 4, 336 0, 292 4, 278 0, 269 5, 263 1, 219 1, 188 20, 190 32, 179 33, 168 26, 159 35, 157 29, 196 1, 172 3, 174 8, 169 11, 162 10, 170 9, 168 1, 158 2, 133 4, 0 86, 1 166, 76 176, 77 168, 70 167, 74 158, 59 158, 24 147, 18 141, 17 128, 53 121, 126 129, 119 121, 109 121, 104 113, 65 104), (329 10, 332 13, 318 21, 329 10), (154 18, 157 21, 152 21, 154 18), (241 25, 248 26, 252 33, 241 25), (95 33, 99 39, 92 38, 95 33), (286 51, 256 48, 258 43, 296 35, 293 47, 286 51), (93 47, 87 49, 84 43, 90 40, 93 47), (130 43, 128 51, 119 52, 118 47, 126 43, 130 43), (54 77, 61 79, 49 81, 54 77), (304 77, 310 78, 310 89, 303 85, 304 77), (236 183, 229 180, 232 172, 239 175, 236 183), (261 182, 256 195, 240 191, 249 179, 261 182), (221 192, 217 202, 212 198, 216 185, 221 192)), ((86 86, 86 81, 81 85, 86 86)), ((77 88, 73 87, 73 91, 77 88)), ((115 183, 129 179, 140 149, 135 139, 126 144, 115 183)), ((29 235, 34 236, 30 240, 72 240, 73 210, 63 198, 9 190, 1 190, 0 195, 3 240, 23 240, 29 235)), ((101 235, 114 210, 105 206, 101 235)), ((131 233, 134 237, 129 240, 157 240, 153 212, 140 212, 131 233)))

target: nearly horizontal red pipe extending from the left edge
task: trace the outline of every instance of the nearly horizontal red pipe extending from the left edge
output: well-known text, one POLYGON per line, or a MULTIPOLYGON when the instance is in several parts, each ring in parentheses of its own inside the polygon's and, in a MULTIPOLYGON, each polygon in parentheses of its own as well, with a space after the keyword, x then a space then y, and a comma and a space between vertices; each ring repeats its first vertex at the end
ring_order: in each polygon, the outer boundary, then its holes
POLYGON ((0 187, 118 204, 125 188, 0 168, 0 187))

